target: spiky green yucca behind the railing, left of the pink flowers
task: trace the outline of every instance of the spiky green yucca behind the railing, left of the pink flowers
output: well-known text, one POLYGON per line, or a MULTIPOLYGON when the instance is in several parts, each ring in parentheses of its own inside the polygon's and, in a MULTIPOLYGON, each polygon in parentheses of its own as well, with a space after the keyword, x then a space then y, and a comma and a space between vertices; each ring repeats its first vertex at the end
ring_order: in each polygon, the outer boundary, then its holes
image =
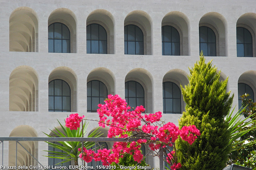
MULTIPOLYGON (((59 122, 59 120, 57 120, 59 122)), ((77 130, 70 130, 67 127, 63 127, 62 124, 59 122, 63 132, 61 132, 56 127, 55 130, 50 129, 54 135, 48 135, 44 133, 48 137, 84 137, 86 134, 86 128, 88 126, 88 123, 83 123, 83 128, 78 128, 77 130)), ((100 137, 101 133, 98 131, 99 128, 94 130, 88 137, 100 137)), ((58 141, 58 143, 53 142, 47 142, 49 146, 62 150, 63 152, 58 151, 46 151, 48 152, 48 155, 45 155, 48 158, 57 158, 57 159, 64 159, 58 164, 62 164, 71 160, 75 161, 75 166, 78 166, 78 158, 79 158, 79 152, 78 148, 82 148, 82 143, 80 141, 58 141)), ((83 142, 85 148, 92 147, 95 143, 94 142, 83 142)), ((57 164, 56 164, 57 165, 57 164)))

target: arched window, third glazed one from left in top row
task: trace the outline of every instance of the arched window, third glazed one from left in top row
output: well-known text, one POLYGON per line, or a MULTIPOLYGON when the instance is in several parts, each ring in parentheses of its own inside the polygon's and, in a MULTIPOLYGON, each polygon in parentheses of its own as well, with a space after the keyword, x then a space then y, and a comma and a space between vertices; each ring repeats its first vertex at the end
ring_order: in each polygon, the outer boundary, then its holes
POLYGON ((124 27, 124 54, 144 54, 143 33, 138 26, 124 27))

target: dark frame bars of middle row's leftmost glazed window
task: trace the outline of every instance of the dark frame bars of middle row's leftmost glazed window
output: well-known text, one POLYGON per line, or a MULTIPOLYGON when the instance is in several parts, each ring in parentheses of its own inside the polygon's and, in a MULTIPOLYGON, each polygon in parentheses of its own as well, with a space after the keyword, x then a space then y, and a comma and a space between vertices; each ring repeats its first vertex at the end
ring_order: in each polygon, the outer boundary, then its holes
MULTIPOLYGON (((49 97, 53 97, 53 109, 50 109, 52 111, 49 111, 49 104, 48 104, 48 112, 55 112, 55 110, 58 110, 58 111, 61 111, 61 112, 63 112, 63 110, 67 111, 67 112, 71 112, 71 89, 70 89, 70 85, 65 80, 62 80, 62 79, 54 79, 52 81, 53 81, 53 95, 49 95, 49 93, 48 93, 48 103, 49 103, 49 97), (61 80, 61 95, 55 95, 55 83, 54 83, 55 80, 61 80), (69 96, 66 96, 66 95, 63 96, 63 81, 65 83, 67 83, 67 85, 68 85, 69 96), (57 97, 61 96, 61 110, 60 109, 55 109, 55 96, 57 96, 57 97), (70 108, 70 110, 63 109, 63 97, 69 97, 69 108, 70 108)), ((52 81, 50 81, 48 83, 48 91, 49 91, 49 84, 52 81)))

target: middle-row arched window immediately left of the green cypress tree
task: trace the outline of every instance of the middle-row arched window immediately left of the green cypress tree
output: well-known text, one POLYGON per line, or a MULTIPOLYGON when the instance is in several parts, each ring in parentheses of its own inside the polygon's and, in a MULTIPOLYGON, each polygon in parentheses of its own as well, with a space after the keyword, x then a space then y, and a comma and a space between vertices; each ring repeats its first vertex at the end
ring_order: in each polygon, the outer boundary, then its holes
POLYGON ((181 114, 181 92, 178 85, 172 82, 163 83, 163 112, 181 114))

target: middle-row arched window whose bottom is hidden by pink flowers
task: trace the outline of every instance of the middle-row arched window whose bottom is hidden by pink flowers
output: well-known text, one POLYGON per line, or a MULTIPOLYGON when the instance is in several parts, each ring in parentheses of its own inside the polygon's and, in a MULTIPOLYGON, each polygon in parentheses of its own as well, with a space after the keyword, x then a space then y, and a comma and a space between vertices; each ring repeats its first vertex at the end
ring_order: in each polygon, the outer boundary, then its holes
POLYGON ((125 83, 125 100, 130 107, 144 106, 144 89, 136 81, 127 81, 125 83))

